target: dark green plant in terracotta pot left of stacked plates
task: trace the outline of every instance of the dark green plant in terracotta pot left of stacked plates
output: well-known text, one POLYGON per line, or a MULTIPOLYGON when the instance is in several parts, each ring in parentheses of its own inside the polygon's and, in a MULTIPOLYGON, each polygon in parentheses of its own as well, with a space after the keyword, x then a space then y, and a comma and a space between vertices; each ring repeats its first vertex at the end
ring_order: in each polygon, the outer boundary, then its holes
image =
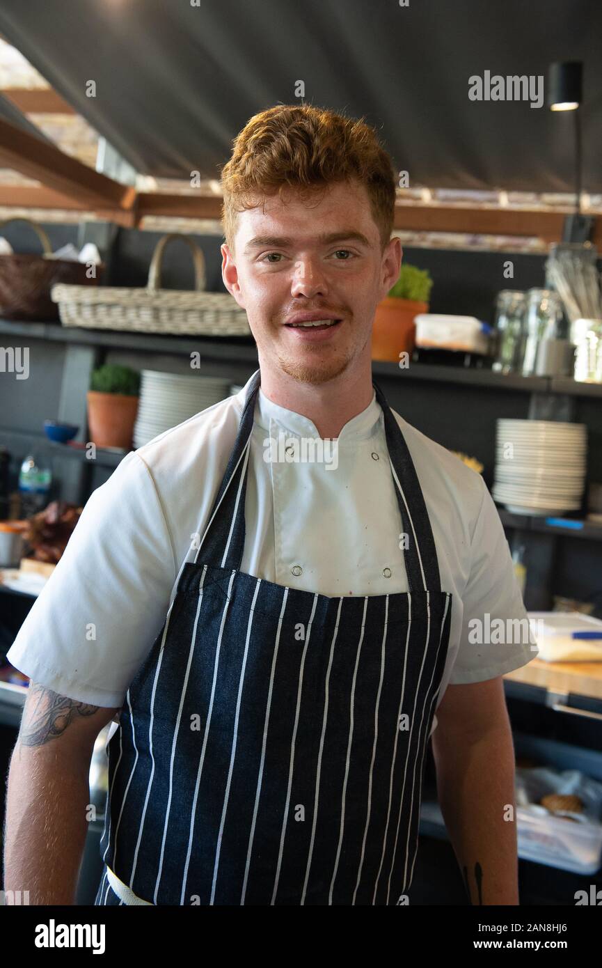
POLYGON ((92 373, 88 390, 88 427, 97 447, 129 450, 138 409, 140 375, 117 363, 105 363, 92 373))

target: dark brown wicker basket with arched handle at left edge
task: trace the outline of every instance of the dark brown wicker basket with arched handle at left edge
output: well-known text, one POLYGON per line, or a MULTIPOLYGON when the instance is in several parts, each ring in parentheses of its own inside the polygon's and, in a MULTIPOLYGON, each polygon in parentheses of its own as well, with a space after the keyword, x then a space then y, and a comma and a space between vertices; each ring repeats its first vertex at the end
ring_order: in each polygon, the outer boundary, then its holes
MULTIPOLYGON (((30 219, 6 219, 0 227, 10 222, 26 222, 36 232, 45 256, 51 256, 52 246, 42 226, 30 219)), ((97 277, 86 277, 84 262, 66 258, 24 256, 13 254, 0 256, 0 317, 26 322, 58 320, 58 307, 50 298, 52 286, 60 283, 78 283, 77 288, 93 291, 103 266, 97 266, 97 277)))

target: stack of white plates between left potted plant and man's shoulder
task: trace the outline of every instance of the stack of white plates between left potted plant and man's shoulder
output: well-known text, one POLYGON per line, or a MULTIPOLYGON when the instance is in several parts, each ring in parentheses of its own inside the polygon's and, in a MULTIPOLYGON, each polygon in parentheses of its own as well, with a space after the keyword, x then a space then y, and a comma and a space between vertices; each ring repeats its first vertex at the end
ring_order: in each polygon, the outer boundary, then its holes
POLYGON ((230 381, 157 370, 142 370, 140 399, 134 426, 134 446, 141 447, 199 410, 225 400, 230 381))

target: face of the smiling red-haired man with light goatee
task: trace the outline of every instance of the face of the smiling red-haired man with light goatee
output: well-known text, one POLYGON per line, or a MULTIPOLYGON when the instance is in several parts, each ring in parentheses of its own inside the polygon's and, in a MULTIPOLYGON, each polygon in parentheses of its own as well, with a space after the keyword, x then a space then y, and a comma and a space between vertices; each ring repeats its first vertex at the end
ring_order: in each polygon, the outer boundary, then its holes
POLYGON ((262 367, 323 383, 371 359, 376 304, 397 281, 402 247, 394 238, 381 253, 363 185, 337 182, 309 201, 268 197, 265 211, 238 215, 234 249, 222 246, 222 276, 247 311, 262 367), (286 324, 298 314, 341 321, 286 324))

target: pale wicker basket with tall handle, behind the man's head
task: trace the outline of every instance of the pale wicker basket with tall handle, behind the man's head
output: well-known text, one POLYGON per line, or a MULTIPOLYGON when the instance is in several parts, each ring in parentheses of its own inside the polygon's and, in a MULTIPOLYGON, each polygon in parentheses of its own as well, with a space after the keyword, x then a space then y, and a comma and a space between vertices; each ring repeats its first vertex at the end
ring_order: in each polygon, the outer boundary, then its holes
POLYGON ((247 314, 228 292, 204 292, 205 260, 188 235, 160 239, 151 259, 146 288, 55 286, 64 326, 127 329, 139 333, 251 336, 247 314), (161 263, 167 242, 182 239, 195 260, 195 291, 161 288, 161 263))

